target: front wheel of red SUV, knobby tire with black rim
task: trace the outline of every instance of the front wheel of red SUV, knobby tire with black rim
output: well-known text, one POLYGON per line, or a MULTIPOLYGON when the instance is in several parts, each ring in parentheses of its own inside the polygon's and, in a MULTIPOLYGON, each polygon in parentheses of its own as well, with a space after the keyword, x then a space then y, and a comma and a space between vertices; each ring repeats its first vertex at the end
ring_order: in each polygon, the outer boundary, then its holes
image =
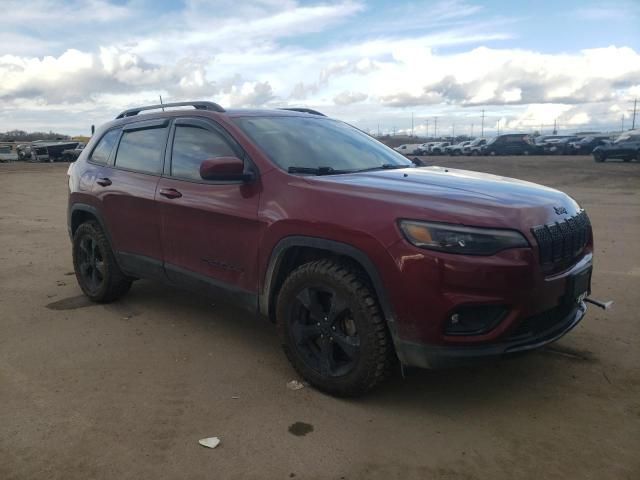
POLYGON ((276 319, 287 358, 319 390, 358 396, 391 372, 396 357, 376 296, 341 263, 295 269, 278 294, 276 319))

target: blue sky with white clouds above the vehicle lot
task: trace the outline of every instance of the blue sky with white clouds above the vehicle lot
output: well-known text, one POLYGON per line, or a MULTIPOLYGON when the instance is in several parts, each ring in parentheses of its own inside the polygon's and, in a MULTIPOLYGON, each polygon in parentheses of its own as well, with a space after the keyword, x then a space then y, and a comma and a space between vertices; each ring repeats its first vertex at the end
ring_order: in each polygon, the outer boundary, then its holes
POLYGON ((160 95, 304 106, 372 133, 478 135, 483 111, 485 134, 611 131, 640 97, 640 0, 0 7, 0 131, 87 134, 160 95))

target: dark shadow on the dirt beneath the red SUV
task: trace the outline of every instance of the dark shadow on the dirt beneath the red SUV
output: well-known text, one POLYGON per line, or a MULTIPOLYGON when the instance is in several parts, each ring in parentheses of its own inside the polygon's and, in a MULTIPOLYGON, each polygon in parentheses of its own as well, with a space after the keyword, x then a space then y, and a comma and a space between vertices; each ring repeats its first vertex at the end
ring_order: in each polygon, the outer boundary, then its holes
MULTIPOLYGON (((135 314, 149 310, 166 312, 171 321, 178 322, 177 327, 184 331, 198 330, 199 335, 211 338, 212 342, 223 337, 234 345, 236 348, 226 350, 226 354, 237 355, 238 358, 228 357, 227 361, 243 362, 247 356, 255 356, 268 362, 276 370, 274 375, 282 376, 283 385, 292 378, 298 378, 282 353, 275 325, 221 299, 160 283, 139 281, 127 297, 111 304, 108 309, 118 315, 129 311, 135 314), (215 324, 214 329, 207 328, 211 323, 215 324)), ((404 370, 404 375, 398 366, 387 382, 355 399, 337 399, 313 391, 314 395, 325 397, 323 402, 346 402, 373 408, 401 407, 403 412, 428 410, 453 417, 463 410, 495 409, 514 401, 526 402, 533 391, 543 395, 544 390, 552 386, 556 388, 558 384, 571 383, 575 372, 572 366, 597 362, 588 354, 571 354, 570 349, 566 351, 569 354, 563 355, 562 349, 560 354, 541 350, 464 368, 409 368, 404 370)))

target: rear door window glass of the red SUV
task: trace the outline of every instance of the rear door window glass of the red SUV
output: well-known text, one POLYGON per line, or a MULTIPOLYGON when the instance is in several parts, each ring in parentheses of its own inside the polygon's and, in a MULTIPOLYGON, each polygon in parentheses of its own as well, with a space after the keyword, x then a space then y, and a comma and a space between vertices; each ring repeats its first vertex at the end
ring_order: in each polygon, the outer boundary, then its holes
POLYGON ((160 173, 166 133, 166 128, 125 131, 116 153, 116 167, 160 173))

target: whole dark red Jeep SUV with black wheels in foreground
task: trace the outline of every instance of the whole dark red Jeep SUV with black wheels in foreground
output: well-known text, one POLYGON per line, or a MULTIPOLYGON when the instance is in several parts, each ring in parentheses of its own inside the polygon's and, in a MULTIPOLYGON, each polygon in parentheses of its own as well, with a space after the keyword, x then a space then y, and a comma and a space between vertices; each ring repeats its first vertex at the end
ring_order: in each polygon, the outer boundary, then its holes
POLYGON ((224 292, 336 395, 398 361, 537 348, 585 314, 591 225, 562 192, 419 168, 313 110, 162 107, 121 113, 69 169, 74 267, 93 301, 143 277, 224 292))

